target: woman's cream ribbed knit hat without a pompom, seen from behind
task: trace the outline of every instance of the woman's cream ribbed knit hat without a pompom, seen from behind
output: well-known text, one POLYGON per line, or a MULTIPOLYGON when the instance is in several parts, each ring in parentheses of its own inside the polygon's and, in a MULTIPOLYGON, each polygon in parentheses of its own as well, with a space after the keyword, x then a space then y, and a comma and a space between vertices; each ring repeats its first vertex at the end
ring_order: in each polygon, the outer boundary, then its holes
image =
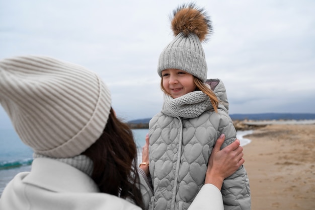
POLYGON ((110 91, 88 69, 45 56, 0 60, 0 103, 35 153, 80 155, 102 134, 110 91))

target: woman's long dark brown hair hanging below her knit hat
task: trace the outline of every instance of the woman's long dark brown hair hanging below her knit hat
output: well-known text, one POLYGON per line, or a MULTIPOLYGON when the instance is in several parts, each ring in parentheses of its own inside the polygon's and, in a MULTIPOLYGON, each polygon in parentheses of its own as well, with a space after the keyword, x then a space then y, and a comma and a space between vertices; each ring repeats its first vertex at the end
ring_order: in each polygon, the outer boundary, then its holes
POLYGON ((144 208, 132 130, 117 119, 112 108, 102 135, 83 155, 93 161, 92 179, 101 192, 130 198, 144 208))

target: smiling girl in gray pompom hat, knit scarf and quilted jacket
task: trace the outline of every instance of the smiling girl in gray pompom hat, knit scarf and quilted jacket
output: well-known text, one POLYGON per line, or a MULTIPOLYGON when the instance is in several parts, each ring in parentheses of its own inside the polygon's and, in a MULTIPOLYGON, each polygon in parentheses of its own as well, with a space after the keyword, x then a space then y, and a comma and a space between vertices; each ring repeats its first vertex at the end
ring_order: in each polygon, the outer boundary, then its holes
MULTIPOLYGON (((174 11, 175 38, 162 51, 157 68, 164 105, 149 122, 150 209, 187 209, 204 184, 216 139, 225 134, 222 147, 236 139, 223 83, 206 81, 201 42, 212 30, 210 23, 194 4, 174 11)), ((244 166, 224 180, 221 193, 225 209, 251 208, 244 166)))

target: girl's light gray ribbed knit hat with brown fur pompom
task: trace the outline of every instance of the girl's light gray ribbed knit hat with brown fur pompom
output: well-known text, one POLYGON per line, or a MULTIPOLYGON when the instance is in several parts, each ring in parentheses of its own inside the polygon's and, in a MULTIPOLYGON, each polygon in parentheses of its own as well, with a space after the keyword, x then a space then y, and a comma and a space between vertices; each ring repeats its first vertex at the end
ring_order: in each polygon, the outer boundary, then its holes
POLYGON ((207 79, 207 63, 201 42, 212 32, 210 17, 194 4, 174 10, 172 30, 175 38, 162 51, 157 74, 167 68, 181 69, 202 82, 207 79))

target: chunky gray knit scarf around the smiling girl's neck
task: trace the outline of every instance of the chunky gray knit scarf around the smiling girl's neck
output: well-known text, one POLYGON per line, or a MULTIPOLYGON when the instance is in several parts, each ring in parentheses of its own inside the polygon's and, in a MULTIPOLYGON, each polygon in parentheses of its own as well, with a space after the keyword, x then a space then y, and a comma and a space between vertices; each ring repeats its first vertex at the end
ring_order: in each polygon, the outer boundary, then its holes
POLYGON ((164 105, 173 115, 185 118, 198 117, 212 107, 209 96, 202 91, 193 91, 178 98, 164 94, 164 105))

